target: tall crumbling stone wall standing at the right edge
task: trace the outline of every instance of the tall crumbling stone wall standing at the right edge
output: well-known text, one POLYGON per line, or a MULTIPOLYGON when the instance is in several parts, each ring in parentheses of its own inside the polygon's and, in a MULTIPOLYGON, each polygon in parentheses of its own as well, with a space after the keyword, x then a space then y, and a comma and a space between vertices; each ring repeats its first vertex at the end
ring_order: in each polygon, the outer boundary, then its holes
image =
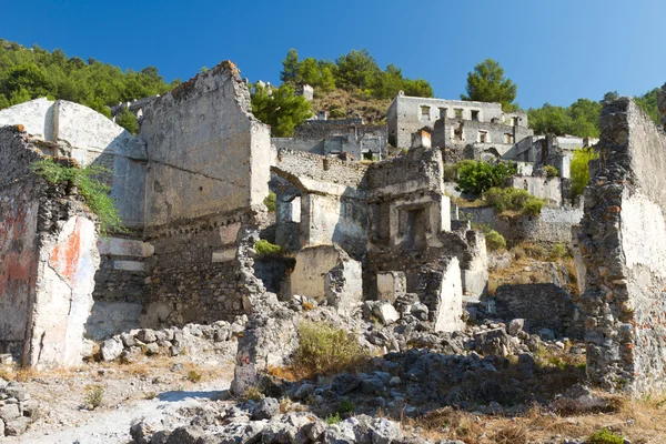
POLYGON ((585 189, 587 374, 607 387, 666 386, 666 137, 628 98, 604 107, 585 189))

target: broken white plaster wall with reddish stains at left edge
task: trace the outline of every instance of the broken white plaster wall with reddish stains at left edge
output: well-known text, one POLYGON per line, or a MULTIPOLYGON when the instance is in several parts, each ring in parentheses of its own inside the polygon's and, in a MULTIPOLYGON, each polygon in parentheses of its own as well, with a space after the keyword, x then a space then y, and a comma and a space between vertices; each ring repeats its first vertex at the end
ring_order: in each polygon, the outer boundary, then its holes
POLYGON ((28 167, 40 150, 0 129, 0 347, 28 365, 74 365, 99 266, 97 230, 75 189, 28 167))

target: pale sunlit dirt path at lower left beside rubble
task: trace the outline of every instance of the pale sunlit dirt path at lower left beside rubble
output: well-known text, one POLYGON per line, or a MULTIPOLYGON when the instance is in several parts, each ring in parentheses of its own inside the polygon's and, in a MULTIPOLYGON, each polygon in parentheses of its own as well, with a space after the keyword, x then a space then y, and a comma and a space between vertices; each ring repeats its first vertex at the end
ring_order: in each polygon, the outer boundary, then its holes
POLYGON ((230 381, 214 380, 199 384, 198 391, 171 391, 153 400, 141 400, 115 410, 89 412, 78 426, 58 431, 28 431, 19 437, 7 437, 7 443, 26 444, 127 444, 131 441, 130 425, 140 417, 167 418, 182 407, 196 406, 199 400, 219 400, 229 389, 230 381))

